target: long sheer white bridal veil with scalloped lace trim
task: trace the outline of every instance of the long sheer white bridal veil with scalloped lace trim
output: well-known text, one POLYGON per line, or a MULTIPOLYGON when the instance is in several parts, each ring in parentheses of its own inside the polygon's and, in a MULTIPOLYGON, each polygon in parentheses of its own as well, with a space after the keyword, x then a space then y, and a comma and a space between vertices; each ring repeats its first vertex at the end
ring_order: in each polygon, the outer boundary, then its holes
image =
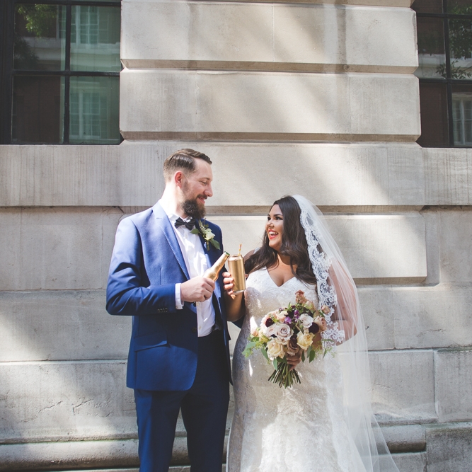
POLYGON ((328 330, 323 338, 336 345, 335 356, 343 373, 343 409, 350 436, 367 472, 398 472, 372 413, 367 340, 354 280, 323 214, 305 197, 293 197, 301 209, 300 221, 317 280, 320 306, 330 307, 326 316, 328 330))

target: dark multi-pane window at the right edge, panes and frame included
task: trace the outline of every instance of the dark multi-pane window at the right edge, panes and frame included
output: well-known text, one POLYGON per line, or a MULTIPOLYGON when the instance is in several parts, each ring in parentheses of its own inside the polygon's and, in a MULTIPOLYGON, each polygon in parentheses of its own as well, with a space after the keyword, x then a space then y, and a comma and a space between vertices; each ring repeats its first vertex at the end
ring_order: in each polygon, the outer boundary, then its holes
POLYGON ((421 146, 472 147, 472 1, 415 0, 421 146))

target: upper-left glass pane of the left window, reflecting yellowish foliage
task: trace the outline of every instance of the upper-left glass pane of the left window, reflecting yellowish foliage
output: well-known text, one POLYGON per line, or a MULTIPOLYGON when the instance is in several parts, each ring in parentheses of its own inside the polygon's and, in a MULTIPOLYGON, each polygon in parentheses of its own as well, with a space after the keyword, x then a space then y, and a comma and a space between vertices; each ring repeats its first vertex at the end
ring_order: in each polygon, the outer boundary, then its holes
POLYGON ((19 4, 15 10, 13 68, 64 70, 66 7, 19 4))

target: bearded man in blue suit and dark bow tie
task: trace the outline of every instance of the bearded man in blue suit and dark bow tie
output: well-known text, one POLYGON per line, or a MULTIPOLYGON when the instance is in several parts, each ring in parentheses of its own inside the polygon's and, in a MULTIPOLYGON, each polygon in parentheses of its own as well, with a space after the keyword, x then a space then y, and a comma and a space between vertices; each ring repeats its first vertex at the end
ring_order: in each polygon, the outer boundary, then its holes
POLYGON ((192 149, 169 156, 161 200, 123 219, 116 233, 107 311, 133 316, 127 386, 140 472, 168 471, 179 410, 191 471, 221 472, 231 372, 222 277, 202 277, 223 247, 219 226, 202 220, 213 195, 211 164, 192 149), (199 220, 215 245, 191 232, 199 220))

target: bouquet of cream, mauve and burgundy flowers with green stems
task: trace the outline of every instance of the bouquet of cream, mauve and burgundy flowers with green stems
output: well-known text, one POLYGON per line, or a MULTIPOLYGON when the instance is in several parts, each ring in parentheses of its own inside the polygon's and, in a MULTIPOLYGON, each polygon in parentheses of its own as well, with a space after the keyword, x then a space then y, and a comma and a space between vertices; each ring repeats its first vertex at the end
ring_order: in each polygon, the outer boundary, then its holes
POLYGON ((326 355, 332 346, 330 340, 321 338, 313 344, 313 338, 318 332, 326 330, 325 314, 329 312, 326 305, 316 310, 313 302, 307 300, 304 292, 299 290, 295 294, 295 304, 270 311, 264 316, 260 326, 251 333, 243 354, 249 357, 254 350, 260 350, 267 361, 274 365, 275 370, 269 381, 280 387, 287 388, 294 382, 299 384, 299 374, 295 369, 290 370, 286 356, 297 355, 301 351, 301 362, 305 362, 305 359, 313 362, 318 353, 326 355))

